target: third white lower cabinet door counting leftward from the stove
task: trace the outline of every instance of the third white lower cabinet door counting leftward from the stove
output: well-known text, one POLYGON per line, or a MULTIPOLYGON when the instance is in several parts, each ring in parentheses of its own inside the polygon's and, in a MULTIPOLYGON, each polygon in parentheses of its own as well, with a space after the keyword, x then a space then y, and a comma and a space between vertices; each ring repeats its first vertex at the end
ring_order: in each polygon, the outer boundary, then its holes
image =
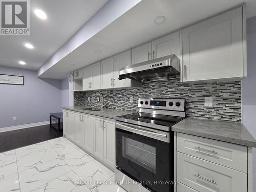
POLYGON ((93 116, 84 115, 84 148, 93 154, 93 116))

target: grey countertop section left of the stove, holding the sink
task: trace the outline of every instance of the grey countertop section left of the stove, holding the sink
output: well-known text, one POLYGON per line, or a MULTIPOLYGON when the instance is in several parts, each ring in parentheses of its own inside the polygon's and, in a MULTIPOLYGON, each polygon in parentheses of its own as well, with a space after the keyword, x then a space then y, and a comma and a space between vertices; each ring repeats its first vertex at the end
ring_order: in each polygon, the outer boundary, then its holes
POLYGON ((91 114, 91 115, 97 115, 100 117, 106 117, 110 119, 115 119, 117 116, 134 113, 132 111, 123 111, 123 110, 114 110, 114 109, 102 109, 100 111, 82 110, 84 108, 92 108, 92 106, 65 106, 62 109, 91 114))

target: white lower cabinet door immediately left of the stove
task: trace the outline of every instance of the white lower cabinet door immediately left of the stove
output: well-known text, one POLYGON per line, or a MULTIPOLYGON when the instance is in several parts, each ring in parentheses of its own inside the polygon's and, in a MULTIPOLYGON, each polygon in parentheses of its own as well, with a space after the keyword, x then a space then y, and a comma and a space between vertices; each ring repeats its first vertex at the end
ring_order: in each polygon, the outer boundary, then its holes
POLYGON ((113 168, 116 165, 115 133, 115 120, 104 119, 104 162, 113 168))

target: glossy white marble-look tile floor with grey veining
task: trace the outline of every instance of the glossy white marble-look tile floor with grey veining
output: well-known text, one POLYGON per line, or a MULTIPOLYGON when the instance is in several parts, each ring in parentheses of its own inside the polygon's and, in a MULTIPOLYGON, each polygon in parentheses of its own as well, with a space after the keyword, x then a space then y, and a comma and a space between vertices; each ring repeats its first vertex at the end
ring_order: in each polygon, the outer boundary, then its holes
POLYGON ((63 137, 0 153, 0 191, 125 192, 109 168, 63 137))

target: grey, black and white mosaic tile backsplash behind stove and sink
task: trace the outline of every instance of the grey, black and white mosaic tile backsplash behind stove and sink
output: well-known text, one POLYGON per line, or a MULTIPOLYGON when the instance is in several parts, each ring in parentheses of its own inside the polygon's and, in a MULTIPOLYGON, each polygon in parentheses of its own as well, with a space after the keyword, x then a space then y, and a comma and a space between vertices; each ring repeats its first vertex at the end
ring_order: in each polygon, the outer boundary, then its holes
MULTIPOLYGON (((182 83, 179 79, 146 81, 141 88, 101 90, 109 108, 137 110, 138 98, 184 98, 187 117, 241 122, 241 83, 182 83), (129 102, 133 96, 133 103, 129 102), (204 106, 204 97, 212 96, 213 106, 204 106)), ((74 105, 100 107, 100 91, 74 92, 74 105), (90 97, 90 101, 88 101, 90 97)))

